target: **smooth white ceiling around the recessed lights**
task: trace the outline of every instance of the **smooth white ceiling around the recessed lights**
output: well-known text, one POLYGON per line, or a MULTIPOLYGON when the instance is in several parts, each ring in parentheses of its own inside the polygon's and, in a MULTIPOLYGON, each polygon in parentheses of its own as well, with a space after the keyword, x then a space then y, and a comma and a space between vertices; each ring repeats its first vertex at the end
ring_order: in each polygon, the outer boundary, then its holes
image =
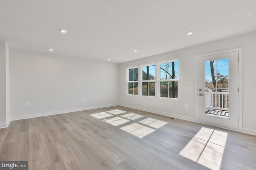
POLYGON ((111 63, 252 31, 256 0, 0 0, 10 47, 111 63))

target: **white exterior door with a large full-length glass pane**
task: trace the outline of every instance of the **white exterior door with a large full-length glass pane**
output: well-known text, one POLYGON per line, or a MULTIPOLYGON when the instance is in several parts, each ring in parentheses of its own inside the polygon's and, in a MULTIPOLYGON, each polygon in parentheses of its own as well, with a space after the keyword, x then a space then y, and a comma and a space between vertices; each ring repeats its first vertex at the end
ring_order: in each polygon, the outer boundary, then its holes
POLYGON ((197 60, 198 122, 238 130, 238 51, 197 60))

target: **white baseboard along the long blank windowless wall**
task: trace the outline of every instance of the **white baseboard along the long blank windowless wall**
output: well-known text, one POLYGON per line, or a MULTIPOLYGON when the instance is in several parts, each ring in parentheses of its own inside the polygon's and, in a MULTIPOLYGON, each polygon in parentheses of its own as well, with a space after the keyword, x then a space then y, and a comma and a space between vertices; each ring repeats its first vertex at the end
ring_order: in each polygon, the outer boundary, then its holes
POLYGON ((83 110, 89 110, 89 109, 98 109, 98 108, 102 108, 102 107, 111 107, 111 106, 118 106, 118 105, 119 105, 119 104, 107 104, 107 105, 101 105, 101 106, 83 107, 83 108, 78 108, 78 109, 68 109, 68 110, 60 110, 60 111, 50 111, 50 112, 37 113, 37 114, 32 114, 32 115, 14 116, 14 117, 11 117, 11 121, 14 121, 14 120, 21 120, 21 119, 29 119, 29 118, 34 118, 34 117, 49 116, 49 115, 58 115, 58 114, 70 113, 70 112, 74 112, 74 111, 83 111, 83 110))

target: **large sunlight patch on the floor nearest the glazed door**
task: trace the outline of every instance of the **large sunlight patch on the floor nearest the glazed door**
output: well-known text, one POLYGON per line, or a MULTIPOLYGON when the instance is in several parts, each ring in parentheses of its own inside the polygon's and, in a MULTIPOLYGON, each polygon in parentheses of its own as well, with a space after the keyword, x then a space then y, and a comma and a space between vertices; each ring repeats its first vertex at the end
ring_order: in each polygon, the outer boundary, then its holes
POLYGON ((220 170, 227 136, 226 132, 202 127, 179 155, 212 170, 220 170))

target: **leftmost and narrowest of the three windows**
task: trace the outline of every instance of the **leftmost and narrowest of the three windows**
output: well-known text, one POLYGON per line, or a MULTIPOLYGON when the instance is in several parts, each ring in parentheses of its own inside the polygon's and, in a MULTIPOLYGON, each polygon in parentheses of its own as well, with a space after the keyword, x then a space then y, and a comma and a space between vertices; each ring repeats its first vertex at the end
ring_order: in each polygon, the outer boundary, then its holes
POLYGON ((138 95, 138 67, 128 68, 128 94, 138 95))

